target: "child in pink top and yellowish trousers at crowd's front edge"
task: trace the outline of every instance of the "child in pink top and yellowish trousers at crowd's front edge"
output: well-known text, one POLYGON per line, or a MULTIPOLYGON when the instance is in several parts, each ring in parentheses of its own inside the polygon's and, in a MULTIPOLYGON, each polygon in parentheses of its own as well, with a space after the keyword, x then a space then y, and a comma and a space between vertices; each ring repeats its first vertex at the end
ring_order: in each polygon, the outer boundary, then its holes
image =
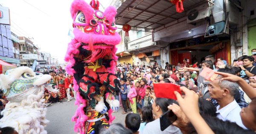
POLYGON ((131 105, 131 110, 134 114, 137 113, 137 108, 136 108, 136 97, 137 97, 137 91, 136 89, 134 88, 134 83, 133 82, 130 82, 130 91, 128 92, 128 99, 129 99, 129 102, 130 102, 130 105, 131 105))

